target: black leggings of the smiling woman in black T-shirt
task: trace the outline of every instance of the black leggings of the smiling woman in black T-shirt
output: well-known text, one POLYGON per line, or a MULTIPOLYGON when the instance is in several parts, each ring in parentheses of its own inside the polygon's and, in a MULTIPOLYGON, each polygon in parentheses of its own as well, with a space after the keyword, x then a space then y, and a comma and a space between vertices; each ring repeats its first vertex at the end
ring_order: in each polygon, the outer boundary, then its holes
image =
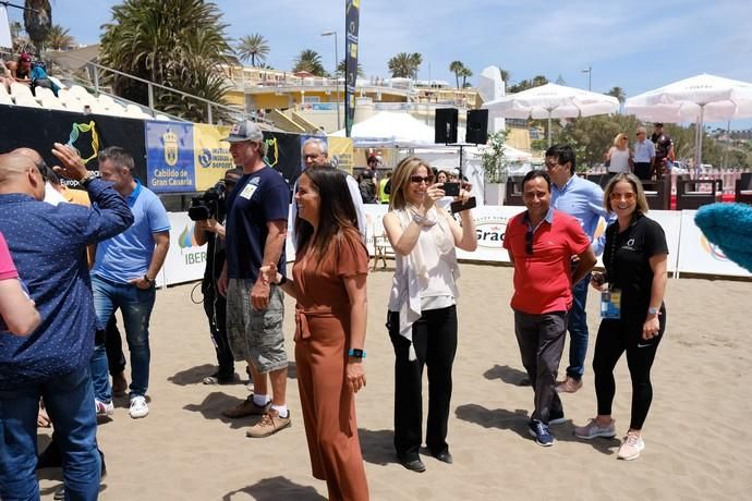
POLYGON ((632 379, 632 419, 630 429, 642 429, 647 411, 653 401, 651 367, 655 352, 666 330, 666 311, 662 309, 658 317, 659 330, 656 338, 642 339, 644 318, 603 320, 595 341, 593 371, 595 372, 595 395, 598 401, 598 414, 611 415, 611 403, 616 393, 614 368, 627 352, 627 366, 632 379))

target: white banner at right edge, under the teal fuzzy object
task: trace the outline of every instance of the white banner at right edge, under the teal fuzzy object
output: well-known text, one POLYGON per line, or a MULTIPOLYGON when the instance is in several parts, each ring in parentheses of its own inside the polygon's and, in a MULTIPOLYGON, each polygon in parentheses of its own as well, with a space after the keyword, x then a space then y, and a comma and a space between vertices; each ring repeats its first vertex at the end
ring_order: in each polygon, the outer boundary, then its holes
MULTIPOLYGON (((679 272, 752 277, 712 244, 694 224, 696 210, 681 211, 681 239, 679 240, 679 272)), ((653 212, 651 212, 653 213, 653 212)))

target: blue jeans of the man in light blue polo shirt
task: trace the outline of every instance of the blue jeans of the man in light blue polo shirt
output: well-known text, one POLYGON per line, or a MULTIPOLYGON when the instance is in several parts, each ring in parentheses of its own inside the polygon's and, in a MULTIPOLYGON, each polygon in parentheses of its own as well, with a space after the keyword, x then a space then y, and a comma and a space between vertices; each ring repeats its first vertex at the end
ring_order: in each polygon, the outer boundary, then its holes
MULTIPOLYGON (((117 283, 101 277, 92 277, 94 307, 101 326, 120 308, 125 327, 125 340, 131 352, 131 396, 146 395, 149 386, 149 318, 156 300, 154 286, 142 290, 130 283, 117 283)), ((105 344, 95 346, 92 356, 94 394, 101 402, 112 401, 105 344)))

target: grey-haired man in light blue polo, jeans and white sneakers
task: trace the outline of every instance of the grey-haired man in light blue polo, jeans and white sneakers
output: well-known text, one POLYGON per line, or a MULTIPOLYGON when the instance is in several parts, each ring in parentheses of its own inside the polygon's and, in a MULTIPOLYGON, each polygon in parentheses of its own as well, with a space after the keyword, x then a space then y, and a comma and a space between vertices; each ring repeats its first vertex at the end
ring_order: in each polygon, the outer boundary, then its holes
MULTIPOLYGON (((123 148, 111 146, 99 154, 99 174, 125 198, 134 222, 128 231, 101 242, 92 268, 94 305, 101 326, 120 308, 125 339, 131 352, 132 418, 149 413, 146 390, 149 383, 149 318, 156 300, 154 282, 170 247, 170 220, 161 201, 133 176, 133 157, 123 148)), ((109 331, 111 333, 112 331, 109 331)), ((108 339, 111 350, 95 349, 92 379, 98 415, 112 414, 112 387, 107 357, 122 355, 120 340, 108 339)))

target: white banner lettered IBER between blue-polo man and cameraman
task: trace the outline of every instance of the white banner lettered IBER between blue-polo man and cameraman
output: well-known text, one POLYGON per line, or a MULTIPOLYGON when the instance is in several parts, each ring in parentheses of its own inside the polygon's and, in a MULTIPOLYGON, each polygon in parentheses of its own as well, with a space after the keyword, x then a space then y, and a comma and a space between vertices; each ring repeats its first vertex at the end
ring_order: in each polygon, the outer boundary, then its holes
POLYGON ((206 244, 196 245, 193 235, 194 222, 187 212, 169 212, 170 249, 165 258, 162 271, 165 284, 191 282, 204 278, 206 268, 206 244))

